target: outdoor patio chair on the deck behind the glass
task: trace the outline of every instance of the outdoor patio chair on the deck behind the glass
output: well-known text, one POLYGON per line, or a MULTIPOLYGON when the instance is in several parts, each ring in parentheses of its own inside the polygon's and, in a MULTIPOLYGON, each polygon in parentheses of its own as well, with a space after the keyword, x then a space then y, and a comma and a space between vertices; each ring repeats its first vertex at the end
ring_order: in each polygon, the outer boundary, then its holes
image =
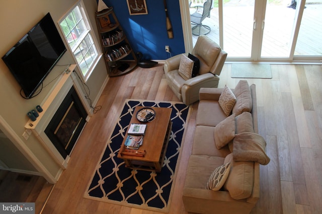
POLYGON ((211 28, 209 26, 203 25, 202 21, 204 21, 204 19, 206 19, 207 17, 210 17, 210 11, 212 9, 211 8, 212 7, 212 0, 208 0, 207 2, 205 2, 203 4, 203 7, 200 7, 200 8, 203 9, 202 14, 198 12, 199 7, 200 6, 197 6, 196 12, 190 15, 191 24, 194 25, 194 27, 191 30, 192 30, 192 34, 195 35, 195 36, 199 36, 201 34, 201 28, 206 29, 206 33, 204 33, 203 35, 207 35, 211 31, 211 28), (198 34, 194 33, 194 30, 197 29, 197 28, 199 28, 199 33, 198 34))

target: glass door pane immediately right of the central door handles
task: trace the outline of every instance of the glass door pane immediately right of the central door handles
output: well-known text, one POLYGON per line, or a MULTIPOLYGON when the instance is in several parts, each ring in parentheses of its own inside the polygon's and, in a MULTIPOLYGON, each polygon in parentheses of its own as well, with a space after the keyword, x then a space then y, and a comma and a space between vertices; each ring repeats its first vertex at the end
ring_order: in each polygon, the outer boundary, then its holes
POLYGON ((291 0, 267 1, 262 28, 262 58, 289 58, 293 41, 296 10, 288 8, 291 0))

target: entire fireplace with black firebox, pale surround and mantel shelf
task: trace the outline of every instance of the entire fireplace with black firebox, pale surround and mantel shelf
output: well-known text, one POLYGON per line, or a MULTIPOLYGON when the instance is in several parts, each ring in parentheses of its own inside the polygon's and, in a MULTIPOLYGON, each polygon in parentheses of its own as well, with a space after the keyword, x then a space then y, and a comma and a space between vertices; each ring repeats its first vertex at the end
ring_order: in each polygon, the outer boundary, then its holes
MULTIPOLYGON (((75 68, 76 65, 70 65, 68 70, 74 71, 75 68)), ((35 121, 29 120, 25 125, 59 166, 54 177, 44 170, 52 183, 67 168, 70 153, 93 115, 83 87, 74 73, 66 72, 57 79, 48 95, 39 103, 43 111, 35 121)))

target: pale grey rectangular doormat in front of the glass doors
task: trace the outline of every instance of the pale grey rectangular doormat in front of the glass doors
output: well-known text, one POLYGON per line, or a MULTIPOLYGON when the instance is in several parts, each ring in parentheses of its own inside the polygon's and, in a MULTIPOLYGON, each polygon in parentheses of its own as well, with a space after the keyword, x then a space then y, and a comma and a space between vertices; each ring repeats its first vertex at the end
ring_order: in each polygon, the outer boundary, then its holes
POLYGON ((270 64, 231 64, 231 78, 272 79, 270 64))

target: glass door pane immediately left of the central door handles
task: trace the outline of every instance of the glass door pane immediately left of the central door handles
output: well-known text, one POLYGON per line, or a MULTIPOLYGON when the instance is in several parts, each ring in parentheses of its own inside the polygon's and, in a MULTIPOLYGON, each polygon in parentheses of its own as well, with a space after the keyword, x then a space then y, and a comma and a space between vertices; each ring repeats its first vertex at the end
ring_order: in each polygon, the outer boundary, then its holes
POLYGON ((252 54, 255 0, 223 1, 223 50, 229 57, 252 54))

